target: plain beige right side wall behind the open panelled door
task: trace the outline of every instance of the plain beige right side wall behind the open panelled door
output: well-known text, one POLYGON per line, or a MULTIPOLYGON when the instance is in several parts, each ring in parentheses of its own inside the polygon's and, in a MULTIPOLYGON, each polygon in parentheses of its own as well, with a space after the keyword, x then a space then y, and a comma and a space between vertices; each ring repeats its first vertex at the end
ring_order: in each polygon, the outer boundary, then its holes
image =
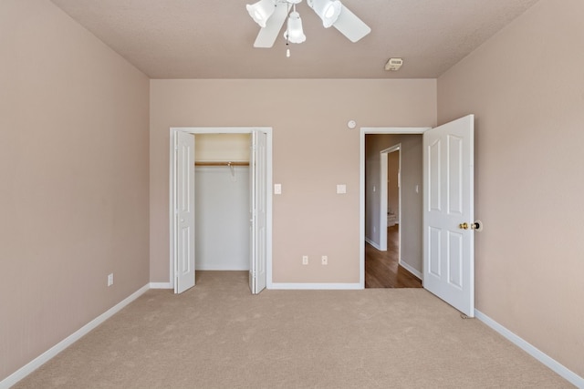
POLYGON ((476 115, 476 307, 584 376, 584 2, 542 0, 438 80, 476 115))

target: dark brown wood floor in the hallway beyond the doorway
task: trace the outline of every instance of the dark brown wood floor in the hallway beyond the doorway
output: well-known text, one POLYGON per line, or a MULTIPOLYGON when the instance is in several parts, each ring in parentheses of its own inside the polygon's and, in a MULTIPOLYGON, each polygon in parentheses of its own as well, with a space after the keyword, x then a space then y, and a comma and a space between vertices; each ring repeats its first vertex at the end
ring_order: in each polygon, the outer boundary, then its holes
POLYGON ((387 229, 387 251, 365 243, 365 288, 422 288, 422 282, 399 264, 400 227, 387 229))

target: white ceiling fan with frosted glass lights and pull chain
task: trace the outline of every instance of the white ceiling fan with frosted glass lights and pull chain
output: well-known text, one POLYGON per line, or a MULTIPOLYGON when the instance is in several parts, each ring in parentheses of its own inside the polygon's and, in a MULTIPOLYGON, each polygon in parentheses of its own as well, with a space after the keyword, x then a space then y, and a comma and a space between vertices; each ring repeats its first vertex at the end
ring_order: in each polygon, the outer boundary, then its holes
MULTIPOLYGON (((284 37, 287 43, 302 43, 306 36, 302 31, 302 21, 296 5, 302 0, 259 0, 247 5, 247 12, 262 28, 255 38, 254 47, 272 47, 287 20, 284 37), (290 12, 292 11, 292 12, 290 12)), ((307 0, 307 4, 322 20, 325 28, 333 26, 347 36, 351 42, 359 41, 371 32, 357 15, 349 11, 339 0, 307 0)), ((287 54, 289 56, 289 52, 287 54)))

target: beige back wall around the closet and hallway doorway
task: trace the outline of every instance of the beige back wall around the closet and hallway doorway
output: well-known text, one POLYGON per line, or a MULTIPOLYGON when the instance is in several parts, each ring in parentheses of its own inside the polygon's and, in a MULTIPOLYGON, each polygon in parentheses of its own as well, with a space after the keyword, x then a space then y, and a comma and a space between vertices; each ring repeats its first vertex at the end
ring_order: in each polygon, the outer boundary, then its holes
POLYGON ((360 130, 347 121, 426 127, 435 112, 435 80, 151 80, 151 281, 169 281, 169 128, 274 128, 274 282, 359 282, 360 130))

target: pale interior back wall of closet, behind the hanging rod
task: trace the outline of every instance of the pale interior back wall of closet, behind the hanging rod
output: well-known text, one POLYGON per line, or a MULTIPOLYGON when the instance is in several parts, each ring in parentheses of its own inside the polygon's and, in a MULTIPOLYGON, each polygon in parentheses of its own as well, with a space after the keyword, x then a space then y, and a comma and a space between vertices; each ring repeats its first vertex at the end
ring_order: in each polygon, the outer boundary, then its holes
POLYGON ((196 270, 249 270, 249 142, 195 135, 196 270))

